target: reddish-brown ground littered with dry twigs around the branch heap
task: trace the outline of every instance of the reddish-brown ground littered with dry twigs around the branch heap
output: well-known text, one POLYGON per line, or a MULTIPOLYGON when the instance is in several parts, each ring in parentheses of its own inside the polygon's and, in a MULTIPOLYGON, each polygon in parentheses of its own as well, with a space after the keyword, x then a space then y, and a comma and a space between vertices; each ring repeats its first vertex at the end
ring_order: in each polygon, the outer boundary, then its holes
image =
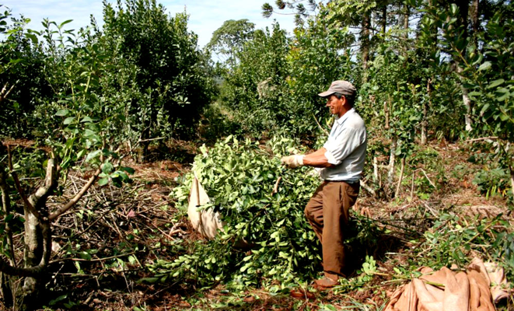
MULTIPOLYGON (((12 142, 15 145, 16 142, 12 142)), ((30 142, 22 142, 27 148, 30 142)), ((373 250, 380 275, 363 288, 350 291, 338 289, 316 291, 297 288, 278 294, 263 289, 229 293, 222 284, 198 290, 195 284, 181 281, 149 284, 140 282, 152 274, 146 264, 167 258, 166 248, 183 240, 199 239, 183 213, 175 209, 170 192, 176 179, 190 169, 196 152, 194 146, 177 143, 168 156, 159 152, 151 162, 124 163, 135 169, 133 183, 122 188, 95 185, 77 208, 60 217, 54 224, 51 271, 46 310, 321 310, 344 306, 379 309, 387 302, 398 282, 388 283, 398 262, 408 260, 409 248, 415 245, 403 229, 390 228, 373 250), (168 158, 168 159, 163 159, 168 158), (177 216, 178 215, 178 216, 177 216), (343 293, 341 293, 343 292, 343 293), (191 303, 194 303, 193 305, 191 303), (329 307, 330 306, 330 307, 329 307)), ((465 163, 466 155, 455 144, 431 146, 446 159, 445 169, 451 171, 465 163)), ((412 173, 414 174, 414 173, 412 173)), ((416 174, 436 180, 421 165, 416 174)), ((71 198, 87 180, 88 172, 70 174, 61 198, 51 198, 50 209, 56 209, 71 198)), ((501 197, 485 198, 472 183, 472 174, 451 177, 430 200, 412 195, 412 175, 405 176, 401 195, 394 200, 380 200, 363 191, 354 206, 356 215, 364 215, 390 226, 391 215, 409 219, 414 210, 425 209, 434 217, 440 210, 455 213, 495 216, 507 211, 501 197)), ((412 179, 414 180, 414 179, 412 179)), ((430 226, 426 219, 405 220, 406 228, 421 231, 430 226)), ((20 248, 21 249, 21 248, 20 248)), ((18 284, 20 285, 20 284, 18 284)))

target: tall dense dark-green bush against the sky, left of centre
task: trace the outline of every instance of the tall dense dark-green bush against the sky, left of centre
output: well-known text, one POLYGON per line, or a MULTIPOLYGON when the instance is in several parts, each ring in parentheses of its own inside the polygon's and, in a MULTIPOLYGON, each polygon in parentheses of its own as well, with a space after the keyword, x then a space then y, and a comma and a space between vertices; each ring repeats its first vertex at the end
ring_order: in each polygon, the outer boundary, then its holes
MULTIPOLYGON (((126 107, 128 136, 143 141, 163 137, 190 138, 197 120, 214 94, 208 59, 197 47, 196 34, 187 29, 188 15, 169 16, 155 0, 126 0, 117 8, 104 5, 104 33, 100 42, 109 59, 134 66, 134 93, 126 107)), ((115 66, 112 73, 123 67, 115 66)), ((123 89, 123 92, 127 92, 123 89)))

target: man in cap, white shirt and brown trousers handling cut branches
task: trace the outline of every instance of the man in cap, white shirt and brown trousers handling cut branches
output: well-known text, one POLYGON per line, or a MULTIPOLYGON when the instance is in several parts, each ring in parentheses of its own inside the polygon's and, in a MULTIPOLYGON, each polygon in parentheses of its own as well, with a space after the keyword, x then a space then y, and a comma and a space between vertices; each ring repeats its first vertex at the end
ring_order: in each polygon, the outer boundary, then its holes
POLYGON ((323 147, 313 153, 283 157, 290 168, 301 165, 321 167, 323 179, 305 207, 305 216, 321 241, 324 278, 315 283, 322 288, 333 287, 344 278, 344 227, 349 211, 359 194, 359 180, 366 153, 364 121, 353 108, 356 89, 343 80, 332 82, 319 96, 326 98, 326 107, 336 117, 323 147))

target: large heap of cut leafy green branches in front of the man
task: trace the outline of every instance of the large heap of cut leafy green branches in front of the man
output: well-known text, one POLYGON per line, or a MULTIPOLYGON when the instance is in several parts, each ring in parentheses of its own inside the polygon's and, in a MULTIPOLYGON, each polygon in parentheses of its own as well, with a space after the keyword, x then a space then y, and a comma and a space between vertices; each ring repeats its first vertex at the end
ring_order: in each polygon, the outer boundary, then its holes
MULTIPOLYGON (((210 198, 200 209, 219 212, 226 226, 212 240, 177 246, 175 260, 158 260, 150 267, 155 277, 147 280, 182 279, 202 286, 222 281, 244 288, 313 277, 321 258, 303 210, 319 177, 308 168, 281 165, 281 156, 300 152, 295 142, 277 137, 260 146, 229 136, 200 150, 193 171, 210 198), (234 246, 243 239, 249 248, 234 246)), ((187 210, 192 181, 190 172, 174 189, 182 211, 187 210)))

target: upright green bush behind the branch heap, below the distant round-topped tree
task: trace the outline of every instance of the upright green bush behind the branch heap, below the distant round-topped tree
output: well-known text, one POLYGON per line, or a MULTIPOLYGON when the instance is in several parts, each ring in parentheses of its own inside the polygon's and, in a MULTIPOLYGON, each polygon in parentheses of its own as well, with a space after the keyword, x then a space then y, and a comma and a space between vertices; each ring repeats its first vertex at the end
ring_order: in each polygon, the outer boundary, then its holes
POLYGON ((227 71, 220 101, 233 111, 234 122, 253 137, 285 132, 291 108, 285 102, 288 41, 278 24, 272 32, 257 30, 237 53, 239 62, 227 71))

